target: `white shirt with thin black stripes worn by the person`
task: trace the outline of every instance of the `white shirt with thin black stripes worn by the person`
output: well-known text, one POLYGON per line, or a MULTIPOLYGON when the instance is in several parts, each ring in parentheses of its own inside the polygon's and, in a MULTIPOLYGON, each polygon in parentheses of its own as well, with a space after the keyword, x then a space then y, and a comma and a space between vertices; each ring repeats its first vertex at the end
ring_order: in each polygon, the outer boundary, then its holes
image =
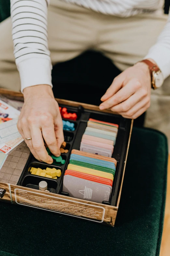
MULTIPOLYGON (((121 17, 154 12, 162 0, 64 0, 85 8, 121 17)), ((51 84, 47 8, 50 0, 11 0, 14 55, 21 77, 21 91, 28 86, 51 84)), ((170 20, 146 58, 155 60, 164 78, 170 75, 170 20), (166 60, 166 61, 165 61, 166 60)))

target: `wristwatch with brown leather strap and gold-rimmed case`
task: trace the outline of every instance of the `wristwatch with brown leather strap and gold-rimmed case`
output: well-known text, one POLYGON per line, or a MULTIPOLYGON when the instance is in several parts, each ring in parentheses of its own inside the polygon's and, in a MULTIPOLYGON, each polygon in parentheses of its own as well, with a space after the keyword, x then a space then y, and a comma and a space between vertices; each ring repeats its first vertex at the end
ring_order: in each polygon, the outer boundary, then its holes
POLYGON ((153 89, 157 89, 161 87, 164 79, 163 79, 163 74, 159 69, 159 67, 156 64, 152 63, 150 60, 141 60, 140 62, 145 62, 149 67, 150 77, 151 77, 151 87, 153 89))

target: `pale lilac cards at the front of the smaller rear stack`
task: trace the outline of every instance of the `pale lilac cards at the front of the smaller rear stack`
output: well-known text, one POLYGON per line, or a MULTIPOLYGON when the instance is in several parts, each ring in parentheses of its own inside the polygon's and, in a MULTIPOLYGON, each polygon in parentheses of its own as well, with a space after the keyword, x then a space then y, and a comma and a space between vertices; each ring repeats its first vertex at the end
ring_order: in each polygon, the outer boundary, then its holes
POLYGON ((111 157, 112 156, 112 152, 111 150, 105 150, 101 147, 94 147, 94 146, 88 146, 86 144, 80 144, 80 150, 84 151, 84 152, 88 152, 88 153, 92 153, 92 154, 96 154, 99 156, 107 156, 107 157, 111 157))

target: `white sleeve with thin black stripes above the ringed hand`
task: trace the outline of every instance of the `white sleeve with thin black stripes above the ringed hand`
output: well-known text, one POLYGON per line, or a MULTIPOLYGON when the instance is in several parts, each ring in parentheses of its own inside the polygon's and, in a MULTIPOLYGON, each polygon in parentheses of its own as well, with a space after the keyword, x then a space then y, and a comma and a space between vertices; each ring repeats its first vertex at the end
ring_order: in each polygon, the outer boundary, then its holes
POLYGON ((12 38, 21 92, 29 86, 51 84, 47 8, 50 0, 11 0, 12 38))

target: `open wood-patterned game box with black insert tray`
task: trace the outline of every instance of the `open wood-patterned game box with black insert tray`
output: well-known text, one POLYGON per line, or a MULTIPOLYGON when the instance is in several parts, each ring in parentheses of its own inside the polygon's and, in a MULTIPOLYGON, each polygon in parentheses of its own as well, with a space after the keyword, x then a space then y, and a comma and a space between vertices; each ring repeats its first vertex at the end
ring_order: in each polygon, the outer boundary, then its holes
MULTIPOLYGON (((0 89, 0 95, 4 95, 11 100, 23 102, 23 95, 19 92, 0 89)), ((109 110, 101 111, 99 107, 94 105, 63 99, 56 100, 59 106, 66 107, 68 112, 76 112, 78 115, 77 121, 70 120, 70 122, 75 123, 75 131, 64 131, 64 138, 69 151, 68 153, 62 154, 65 164, 57 167, 57 169, 60 169, 62 172, 61 177, 58 179, 49 179, 31 175, 28 171, 30 167, 46 169, 46 167, 51 167, 51 165, 38 162, 33 155, 30 154, 28 147, 25 142, 23 142, 9 154, 0 170, 0 188, 6 190, 3 198, 0 198, 0 202, 4 201, 65 214, 113 227, 120 203, 133 120, 125 119, 109 110), (63 191, 64 172, 69 163, 71 150, 79 150, 81 138, 89 118, 119 125, 116 144, 112 155, 112 157, 117 160, 112 194, 110 200, 103 201, 103 203, 73 198, 63 191), (48 189, 55 189, 56 194, 38 190, 38 184, 42 180, 46 180, 48 189)), ((52 164, 52 166, 56 168, 56 165, 52 164)))

